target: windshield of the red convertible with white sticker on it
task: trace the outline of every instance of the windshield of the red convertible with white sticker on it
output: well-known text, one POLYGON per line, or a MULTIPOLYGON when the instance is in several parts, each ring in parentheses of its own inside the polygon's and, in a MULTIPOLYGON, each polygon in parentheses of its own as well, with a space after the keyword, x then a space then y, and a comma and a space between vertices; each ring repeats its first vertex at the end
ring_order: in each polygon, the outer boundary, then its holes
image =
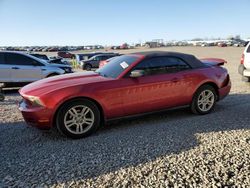
POLYGON ((104 77, 117 78, 124 70, 126 70, 139 57, 123 55, 112 59, 108 64, 95 72, 104 77))

